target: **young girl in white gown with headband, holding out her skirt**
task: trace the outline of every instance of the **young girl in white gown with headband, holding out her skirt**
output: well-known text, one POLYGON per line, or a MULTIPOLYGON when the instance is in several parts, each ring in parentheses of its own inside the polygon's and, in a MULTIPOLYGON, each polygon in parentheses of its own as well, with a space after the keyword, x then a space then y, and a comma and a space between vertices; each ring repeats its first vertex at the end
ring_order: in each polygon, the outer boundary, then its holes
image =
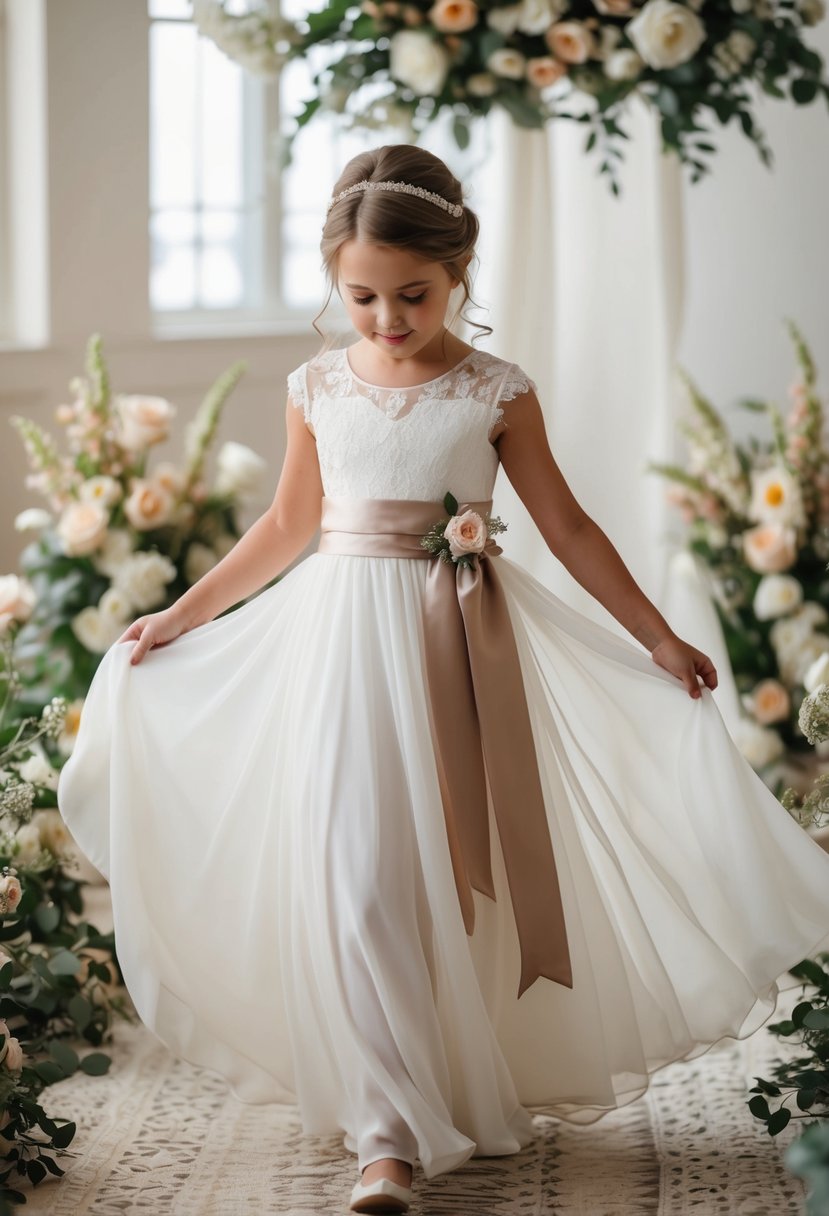
POLYGON ((291 373, 273 502, 109 648, 58 787, 143 1021, 344 1132, 361 1212, 405 1211, 416 1160, 517 1153, 530 1105, 632 1102, 829 948, 829 856, 710 659, 575 501, 534 382, 446 323, 476 236, 429 152, 349 162, 321 247, 359 339, 291 373), (638 644, 509 559, 500 463, 638 644))

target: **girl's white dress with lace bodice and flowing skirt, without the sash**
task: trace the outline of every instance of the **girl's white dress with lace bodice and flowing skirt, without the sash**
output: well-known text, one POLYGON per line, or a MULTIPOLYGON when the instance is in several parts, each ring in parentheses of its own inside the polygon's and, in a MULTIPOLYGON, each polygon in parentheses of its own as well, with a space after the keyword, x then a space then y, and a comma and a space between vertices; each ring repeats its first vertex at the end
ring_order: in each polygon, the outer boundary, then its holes
MULTIPOLYGON (((379 389, 335 349, 288 383, 327 496, 472 502, 492 496, 500 402, 532 382, 475 350, 379 389)), ((829 856, 711 693, 692 699, 498 542, 571 989, 540 978, 517 998, 494 824, 497 897, 475 891, 464 930, 424 687, 428 561, 315 552, 137 666, 113 644, 58 786, 147 1026, 243 1100, 297 1103, 361 1166, 418 1158, 429 1178, 519 1150, 528 1107, 587 1124, 750 1035, 786 969, 829 948, 829 856)))

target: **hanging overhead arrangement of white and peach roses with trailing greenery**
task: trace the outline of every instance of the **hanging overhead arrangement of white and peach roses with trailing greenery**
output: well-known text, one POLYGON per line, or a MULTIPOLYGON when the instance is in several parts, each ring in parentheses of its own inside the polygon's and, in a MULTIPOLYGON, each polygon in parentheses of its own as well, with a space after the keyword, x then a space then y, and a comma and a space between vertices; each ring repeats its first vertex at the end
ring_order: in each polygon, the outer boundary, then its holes
POLYGON ((327 0, 294 23, 260 4, 235 15, 225 0, 193 0, 198 29, 255 73, 276 75, 320 45, 333 50, 284 136, 283 165, 318 113, 344 126, 397 125, 414 142, 450 112, 466 147, 470 124, 501 106, 519 126, 587 123, 585 151, 598 142, 599 171, 616 195, 631 96, 656 111, 662 150, 690 167, 692 181, 716 152, 703 116, 737 119, 771 165, 749 86, 801 106, 829 102, 823 60, 803 43, 824 16, 825 0, 327 0), (587 109, 566 109, 574 98, 587 109))

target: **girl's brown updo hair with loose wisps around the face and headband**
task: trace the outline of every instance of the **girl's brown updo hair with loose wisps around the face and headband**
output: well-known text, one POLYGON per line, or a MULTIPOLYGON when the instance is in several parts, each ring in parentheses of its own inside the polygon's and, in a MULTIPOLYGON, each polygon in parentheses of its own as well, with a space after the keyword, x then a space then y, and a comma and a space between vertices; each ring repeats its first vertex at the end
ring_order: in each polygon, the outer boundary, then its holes
MULTIPOLYGON (((332 198, 357 181, 407 181, 413 186, 441 195, 450 203, 461 203, 463 215, 456 216, 442 207, 404 191, 357 190, 342 198, 328 212, 322 227, 320 250, 322 269, 328 280, 328 297, 311 325, 325 339, 323 349, 333 343, 317 326, 317 319, 328 306, 337 286, 337 265, 340 246, 345 241, 363 241, 399 249, 411 249, 427 261, 439 261, 463 288, 463 300, 447 328, 455 323, 461 309, 472 302, 469 263, 475 253, 478 216, 461 197, 461 182, 440 157, 413 143, 385 143, 353 157, 339 175, 332 198)), ((492 327, 463 317, 476 330, 492 333, 492 327)), ((479 337, 479 334, 475 334, 479 337)), ((474 340, 474 339, 473 339, 474 340)))

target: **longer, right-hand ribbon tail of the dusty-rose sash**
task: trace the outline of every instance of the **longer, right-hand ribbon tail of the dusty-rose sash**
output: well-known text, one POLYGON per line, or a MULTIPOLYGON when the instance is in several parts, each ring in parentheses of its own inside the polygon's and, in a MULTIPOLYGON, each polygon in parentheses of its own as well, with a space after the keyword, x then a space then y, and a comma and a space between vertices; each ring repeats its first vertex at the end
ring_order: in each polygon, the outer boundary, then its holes
POLYGON ((573 987, 573 968, 518 647, 503 587, 484 557, 458 568, 457 593, 520 945, 520 997, 542 975, 573 987))

